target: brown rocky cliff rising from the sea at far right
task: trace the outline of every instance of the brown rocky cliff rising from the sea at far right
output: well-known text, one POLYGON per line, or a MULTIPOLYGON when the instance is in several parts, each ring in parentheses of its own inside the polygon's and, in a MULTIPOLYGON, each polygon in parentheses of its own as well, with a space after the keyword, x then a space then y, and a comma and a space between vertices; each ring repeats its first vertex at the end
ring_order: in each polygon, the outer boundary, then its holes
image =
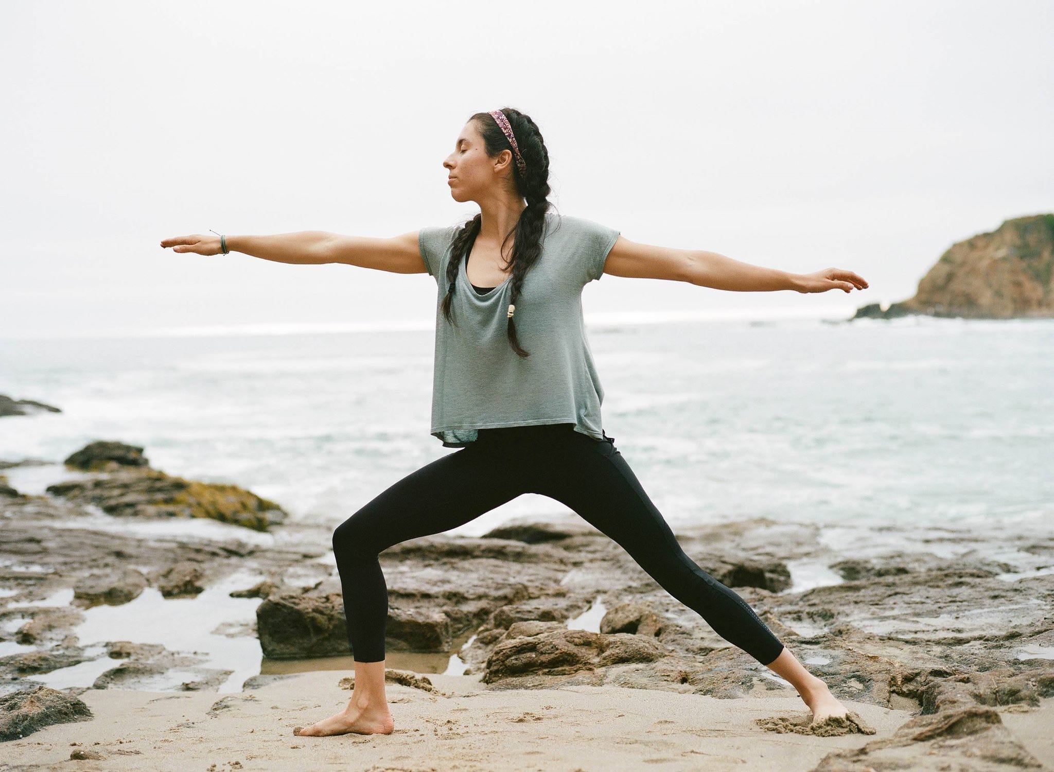
POLYGON ((914 297, 882 311, 873 303, 853 319, 913 313, 967 319, 1054 317, 1054 214, 1006 220, 991 233, 952 245, 919 282, 914 297))

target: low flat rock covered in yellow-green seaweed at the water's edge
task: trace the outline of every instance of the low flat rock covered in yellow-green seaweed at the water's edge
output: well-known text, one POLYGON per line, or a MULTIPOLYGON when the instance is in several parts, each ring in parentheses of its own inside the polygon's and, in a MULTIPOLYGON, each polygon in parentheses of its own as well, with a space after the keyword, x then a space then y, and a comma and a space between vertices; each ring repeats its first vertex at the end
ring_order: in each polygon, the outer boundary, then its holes
POLYGON ((46 490, 118 517, 211 518, 253 530, 267 530, 287 517, 273 501, 237 485, 184 480, 149 467, 122 466, 109 475, 54 483, 46 490))

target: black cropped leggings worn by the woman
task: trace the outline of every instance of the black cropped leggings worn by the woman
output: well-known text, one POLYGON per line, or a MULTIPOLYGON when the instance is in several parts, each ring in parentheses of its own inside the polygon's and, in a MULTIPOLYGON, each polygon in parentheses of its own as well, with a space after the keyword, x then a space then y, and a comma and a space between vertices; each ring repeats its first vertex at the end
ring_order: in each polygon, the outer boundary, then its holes
POLYGON ((388 585, 379 553, 455 528, 521 494, 548 496, 581 515, 762 664, 780 655, 783 644, 754 610, 685 555, 613 439, 594 440, 572 426, 480 429, 475 442, 410 472, 336 527, 333 553, 355 661, 385 658, 388 585))

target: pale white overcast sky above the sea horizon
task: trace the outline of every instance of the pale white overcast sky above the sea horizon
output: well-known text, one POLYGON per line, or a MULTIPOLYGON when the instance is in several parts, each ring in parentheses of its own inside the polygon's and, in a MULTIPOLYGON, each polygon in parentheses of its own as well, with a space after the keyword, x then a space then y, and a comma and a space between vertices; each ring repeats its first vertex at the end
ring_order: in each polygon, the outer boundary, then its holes
POLYGON ((505 105, 540 124, 564 214, 871 283, 604 276, 587 319, 851 314, 1054 211, 1052 39, 1046 1, 3 3, 0 336, 430 326, 427 273, 158 242, 471 216, 442 162, 505 105))

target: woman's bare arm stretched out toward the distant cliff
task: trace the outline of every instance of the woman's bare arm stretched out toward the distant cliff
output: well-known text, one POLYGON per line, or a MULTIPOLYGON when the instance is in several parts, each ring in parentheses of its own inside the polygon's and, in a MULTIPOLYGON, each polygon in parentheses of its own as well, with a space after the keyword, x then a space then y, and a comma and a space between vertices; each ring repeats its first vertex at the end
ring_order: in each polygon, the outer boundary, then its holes
POLYGON ((604 273, 630 278, 667 278, 733 292, 826 292, 867 289, 867 282, 841 268, 815 273, 788 273, 754 266, 703 250, 656 247, 619 236, 604 263, 604 273))

